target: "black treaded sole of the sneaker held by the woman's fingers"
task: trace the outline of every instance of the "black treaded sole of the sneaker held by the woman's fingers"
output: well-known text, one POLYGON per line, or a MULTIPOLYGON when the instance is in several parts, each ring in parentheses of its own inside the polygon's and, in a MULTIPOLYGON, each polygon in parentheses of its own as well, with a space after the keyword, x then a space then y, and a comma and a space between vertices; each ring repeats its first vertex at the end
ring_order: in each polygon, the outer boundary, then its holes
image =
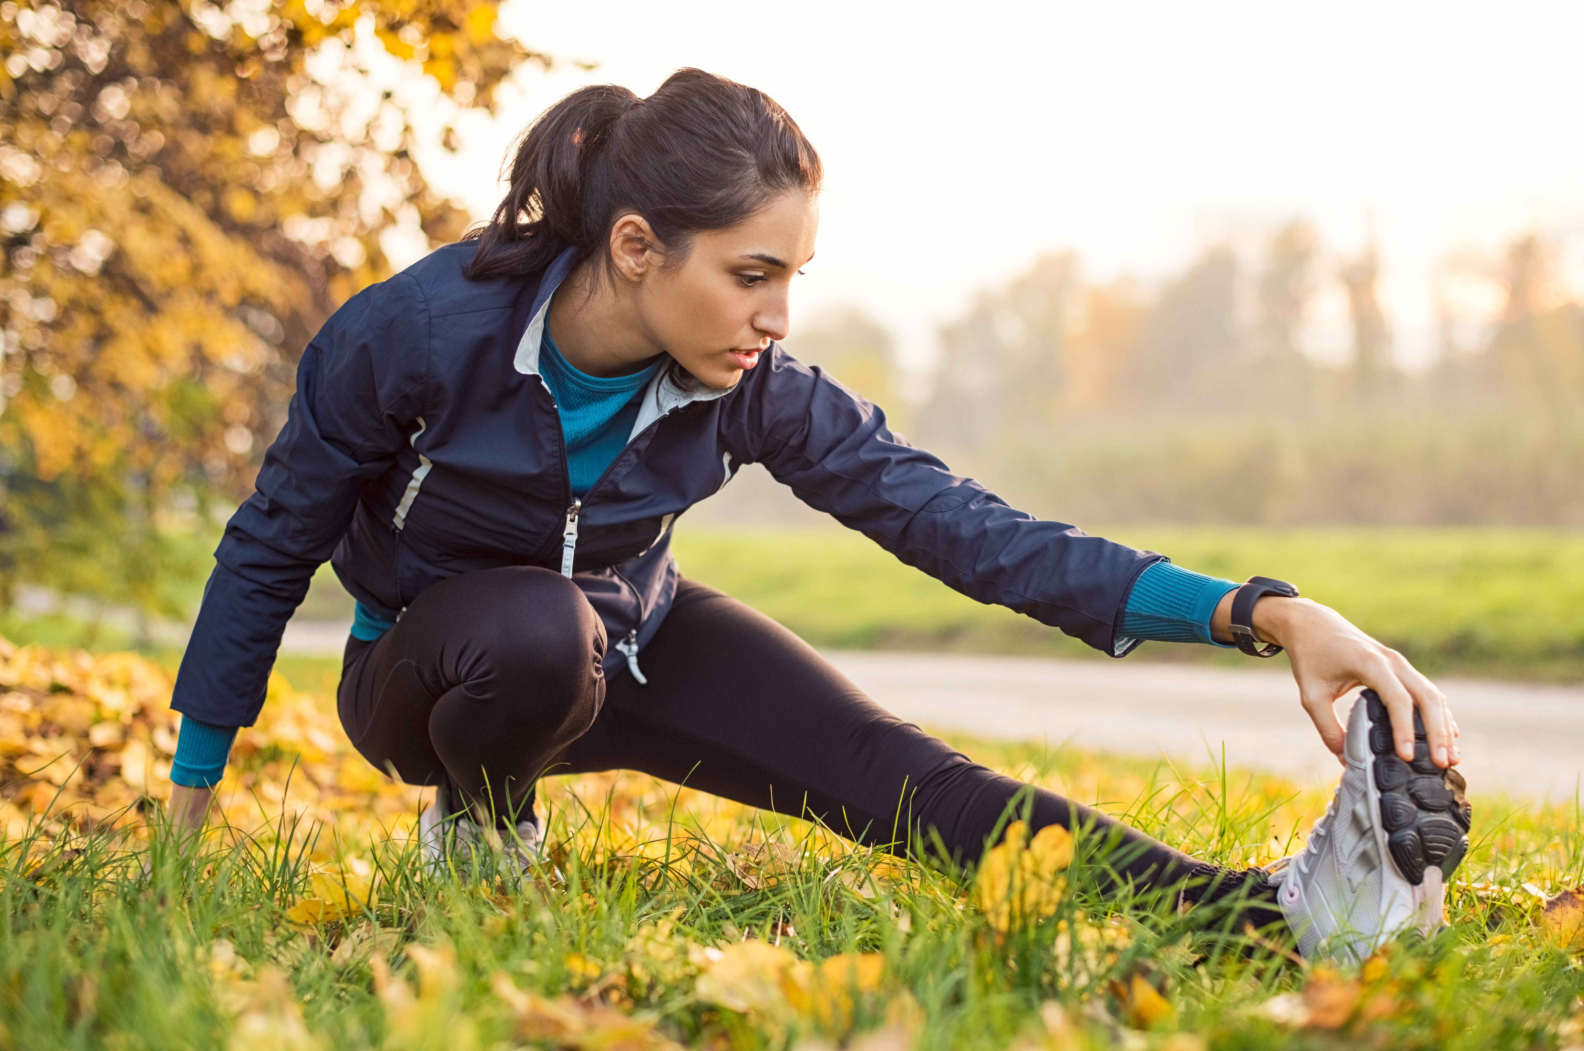
POLYGON ((1473 807, 1464 795, 1467 784, 1456 769, 1441 769, 1430 761, 1424 720, 1413 714, 1413 763, 1397 757, 1391 715, 1375 690, 1364 690, 1370 719, 1370 782, 1380 798, 1386 850, 1397 874, 1413 886, 1424 883, 1429 867, 1441 871, 1440 883, 1468 853, 1468 826, 1473 807))

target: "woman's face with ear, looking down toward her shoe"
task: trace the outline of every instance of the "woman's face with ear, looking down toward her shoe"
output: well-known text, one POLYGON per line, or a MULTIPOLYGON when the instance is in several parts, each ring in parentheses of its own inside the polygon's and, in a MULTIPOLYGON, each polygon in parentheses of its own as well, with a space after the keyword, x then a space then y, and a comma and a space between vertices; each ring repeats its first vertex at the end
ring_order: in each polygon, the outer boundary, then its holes
POLYGON ((792 279, 814 258, 817 231, 816 199, 789 192, 737 226, 695 234, 681 264, 638 282, 648 336, 703 383, 735 386, 770 340, 786 339, 792 279))

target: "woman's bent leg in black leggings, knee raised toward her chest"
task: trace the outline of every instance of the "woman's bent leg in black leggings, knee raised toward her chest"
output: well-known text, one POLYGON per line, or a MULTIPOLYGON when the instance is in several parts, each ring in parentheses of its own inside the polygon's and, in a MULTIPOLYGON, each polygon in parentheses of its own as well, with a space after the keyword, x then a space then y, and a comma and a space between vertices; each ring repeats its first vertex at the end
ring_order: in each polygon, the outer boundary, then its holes
POLYGON ((550 570, 463 573, 374 643, 352 641, 337 706, 352 744, 415 785, 448 784, 510 825, 605 696, 605 628, 550 570))

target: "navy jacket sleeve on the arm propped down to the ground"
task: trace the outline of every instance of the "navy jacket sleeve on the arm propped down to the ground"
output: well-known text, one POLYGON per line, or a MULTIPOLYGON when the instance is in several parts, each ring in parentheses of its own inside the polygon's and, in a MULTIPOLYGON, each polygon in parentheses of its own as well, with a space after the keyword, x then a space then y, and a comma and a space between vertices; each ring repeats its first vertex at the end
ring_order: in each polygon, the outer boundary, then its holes
POLYGON ((219 727, 258 717, 314 570, 412 434, 428 355, 429 315, 409 274, 353 296, 307 345, 287 424, 215 551, 171 708, 219 727))

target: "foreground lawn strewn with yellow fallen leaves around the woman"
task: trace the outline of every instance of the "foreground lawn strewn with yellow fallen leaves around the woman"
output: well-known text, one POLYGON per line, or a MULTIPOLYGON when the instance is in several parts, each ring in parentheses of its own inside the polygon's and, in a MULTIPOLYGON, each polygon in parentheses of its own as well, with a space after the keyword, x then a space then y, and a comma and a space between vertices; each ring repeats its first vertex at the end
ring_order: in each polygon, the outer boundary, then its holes
MULTIPOLYGON (((293 673, 317 677, 317 665, 293 673)), ((429 875, 425 791, 377 776, 328 695, 271 687, 223 821, 177 844, 168 673, 0 644, 0 1046, 1554 1048, 1584 1034, 1574 807, 1475 798, 1451 928, 1308 967, 1204 915, 1099 901, 1036 839, 977 875, 632 774, 542 785, 553 867, 429 875), (1026 882, 1019 875, 1023 874, 1026 882), (1240 951, 1242 950, 1242 951, 1240 951)), ((1258 772, 958 739, 1234 866, 1329 798, 1258 772)), ((1020 842, 1020 840, 1017 840, 1020 842)))

